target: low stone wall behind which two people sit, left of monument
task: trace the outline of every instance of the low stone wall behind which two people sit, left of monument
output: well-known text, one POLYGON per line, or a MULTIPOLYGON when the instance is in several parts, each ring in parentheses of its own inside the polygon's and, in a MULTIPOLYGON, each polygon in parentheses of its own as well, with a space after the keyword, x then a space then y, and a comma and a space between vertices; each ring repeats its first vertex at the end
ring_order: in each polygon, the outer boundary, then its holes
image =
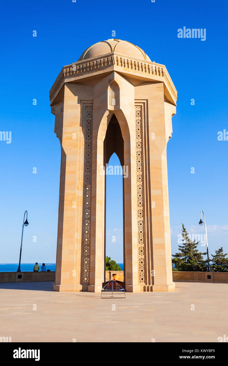
POLYGON ((0 272, 0 282, 55 281, 51 272, 0 272))

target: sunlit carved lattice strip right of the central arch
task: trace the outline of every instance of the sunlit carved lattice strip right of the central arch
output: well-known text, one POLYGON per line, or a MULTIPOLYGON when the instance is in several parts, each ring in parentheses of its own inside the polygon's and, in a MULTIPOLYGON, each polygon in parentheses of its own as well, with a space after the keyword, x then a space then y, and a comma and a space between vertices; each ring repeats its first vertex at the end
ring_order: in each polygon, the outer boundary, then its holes
POLYGON ((137 189, 137 240, 139 283, 145 283, 145 232, 143 201, 142 107, 135 106, 135 161, 137 189))

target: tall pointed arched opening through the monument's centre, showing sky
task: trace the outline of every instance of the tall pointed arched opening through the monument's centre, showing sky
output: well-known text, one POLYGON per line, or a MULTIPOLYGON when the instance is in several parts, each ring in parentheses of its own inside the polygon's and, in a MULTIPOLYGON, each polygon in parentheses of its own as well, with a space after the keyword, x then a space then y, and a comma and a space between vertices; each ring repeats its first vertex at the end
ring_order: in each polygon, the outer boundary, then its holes
MULTIPOLYGON (((104 139, 105 167, 105 245, 104 256, 123 264, 124 245, 124 140, 115 114, 106 130, 104 139)), ((104 258, 105 264, 105 258, 104 258)), ((105 273, 105 269, 104 269, 105 273)), ((105 278, 104 278, 105 282, 105 278)))

